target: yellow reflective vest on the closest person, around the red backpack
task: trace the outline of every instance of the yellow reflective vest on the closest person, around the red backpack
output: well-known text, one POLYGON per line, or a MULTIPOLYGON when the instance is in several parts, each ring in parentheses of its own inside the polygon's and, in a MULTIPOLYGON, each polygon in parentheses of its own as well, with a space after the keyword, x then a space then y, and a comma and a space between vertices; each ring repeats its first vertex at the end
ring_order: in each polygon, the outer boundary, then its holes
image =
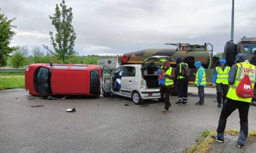
POLYGON ((236 88, 238 87, 238 84, 240 84, 241 79, 244 77, 244 72, 247 72, 247 70, 249 70, 251 67, 248 76, 251 81, 252 89, 254 89, 255 78, 256 78, 255 66, 252 64, 246 63, 246 62, 238 63, 238 64, 236 64, 236 66, 237 66, 237 72, 236 72, 236 77, 235 77, 235 83, 230 86, 229 92, 227 92, 227 97, 232 100, 238 100, 238 101, 244 101, 244 102, 251 103, 252 98, 238 97, 236 95, 236 88))

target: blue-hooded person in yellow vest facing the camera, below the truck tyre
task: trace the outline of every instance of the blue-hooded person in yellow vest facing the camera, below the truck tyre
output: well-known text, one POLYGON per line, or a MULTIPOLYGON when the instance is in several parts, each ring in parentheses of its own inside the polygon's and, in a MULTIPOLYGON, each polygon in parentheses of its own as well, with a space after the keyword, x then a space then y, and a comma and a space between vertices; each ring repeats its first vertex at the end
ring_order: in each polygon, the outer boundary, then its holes
POLYGON ((218 107, 221 107, 221 101, 224 103, 227 98, 227 92, 229 91, 227 77, 229 77, 230 67, 226 66, 226 63, 225 59, 221 59, 213 75, 213 87, 216 86, 218 107))

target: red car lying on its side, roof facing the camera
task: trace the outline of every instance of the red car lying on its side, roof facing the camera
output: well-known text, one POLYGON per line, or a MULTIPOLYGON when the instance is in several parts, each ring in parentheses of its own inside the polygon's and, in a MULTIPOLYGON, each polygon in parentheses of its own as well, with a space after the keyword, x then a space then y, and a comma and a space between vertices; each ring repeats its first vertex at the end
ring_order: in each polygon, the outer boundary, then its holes
POLYGON ((25 87, 30 95, 101 94, 101 68, 86 64, 31 64, 26 68, 25 87))

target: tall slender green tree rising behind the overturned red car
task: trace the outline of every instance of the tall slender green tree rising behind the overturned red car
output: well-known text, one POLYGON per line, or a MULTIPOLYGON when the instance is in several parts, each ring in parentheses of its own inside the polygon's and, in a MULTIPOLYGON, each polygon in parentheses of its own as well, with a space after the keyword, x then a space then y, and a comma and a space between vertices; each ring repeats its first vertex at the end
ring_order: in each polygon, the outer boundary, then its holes
POLYGON ((69 7, 69 9, 67 9, 64 0, 60 3, 60 7, 62 10, 60 10, 59 5, 56 4, 54 16, 49 16, 49 18, 52 19, 52 25, 54 25, 56 30, 55 38, 53 32, 49 32, 54 51, 49 50, 48 46, 43 46, 65 63, 65 60, 70 56, 76 55, 76 51, 74 51, 76 33, 71 24, 73 19, 72 8, 69 7))

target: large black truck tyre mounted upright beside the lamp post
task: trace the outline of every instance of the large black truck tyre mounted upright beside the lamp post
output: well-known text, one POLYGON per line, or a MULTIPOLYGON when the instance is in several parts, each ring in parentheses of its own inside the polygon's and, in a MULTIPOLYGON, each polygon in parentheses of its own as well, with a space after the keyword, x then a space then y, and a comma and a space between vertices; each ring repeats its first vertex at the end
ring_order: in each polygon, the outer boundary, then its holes
POLYGON ((224 48, 224 58, 227 61, 227 66, 232 66, 235 61, 235 44, 233 41, 227 41, 224 48))

